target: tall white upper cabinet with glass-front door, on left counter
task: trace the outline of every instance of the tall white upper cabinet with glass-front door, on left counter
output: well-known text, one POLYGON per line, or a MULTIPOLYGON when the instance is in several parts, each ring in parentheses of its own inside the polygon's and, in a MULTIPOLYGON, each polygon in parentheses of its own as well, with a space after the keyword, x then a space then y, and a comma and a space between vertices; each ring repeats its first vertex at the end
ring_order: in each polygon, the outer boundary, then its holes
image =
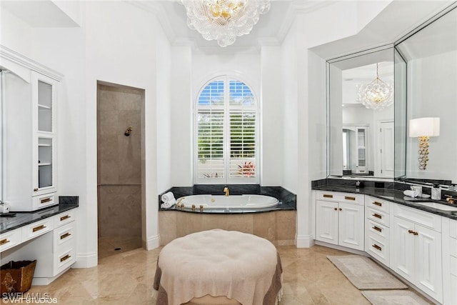
POLYGON ((30 79, 10 72, 4 82, 4 201, 11 211, 52 206, 56 204, 58 81, 30 71, 30 79))

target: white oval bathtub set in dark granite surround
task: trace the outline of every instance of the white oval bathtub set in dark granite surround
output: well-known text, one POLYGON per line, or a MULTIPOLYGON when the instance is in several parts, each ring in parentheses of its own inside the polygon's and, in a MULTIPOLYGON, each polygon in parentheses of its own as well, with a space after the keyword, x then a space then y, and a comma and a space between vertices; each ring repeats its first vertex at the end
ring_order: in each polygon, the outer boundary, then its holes
POLYGON ((271 208, 279 203, 278 199, 265 195, 191 195, 180 197, 176 206, 184 204, 184 208, 196 209, 260 209, 271 208))

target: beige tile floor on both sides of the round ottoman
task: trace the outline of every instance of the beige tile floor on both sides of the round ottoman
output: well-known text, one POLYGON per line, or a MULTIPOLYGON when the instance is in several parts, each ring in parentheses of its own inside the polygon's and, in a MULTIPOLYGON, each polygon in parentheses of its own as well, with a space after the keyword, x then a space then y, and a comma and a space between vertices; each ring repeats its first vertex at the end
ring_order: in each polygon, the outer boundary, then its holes
MULTIPOLYGON (((48 286, 32 286, 30 294, 47 294, 57 304, 156 304, 152 299, 159 249, 135 249, 99 259, 89 269, 70 269, 48 286)), ((326 258, 343 251, 323 246, 296 249, 278 246, 283 264, 280 305, 369 304, 361 292, 326 258)))

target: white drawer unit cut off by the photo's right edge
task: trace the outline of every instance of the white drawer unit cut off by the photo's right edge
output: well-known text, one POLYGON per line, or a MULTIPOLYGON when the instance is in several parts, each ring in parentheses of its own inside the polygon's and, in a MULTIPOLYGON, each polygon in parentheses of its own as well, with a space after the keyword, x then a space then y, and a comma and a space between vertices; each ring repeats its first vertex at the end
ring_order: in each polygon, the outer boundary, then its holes
POLYGON ((457 220, 443 217, 443 304, 457 304, 457 220))

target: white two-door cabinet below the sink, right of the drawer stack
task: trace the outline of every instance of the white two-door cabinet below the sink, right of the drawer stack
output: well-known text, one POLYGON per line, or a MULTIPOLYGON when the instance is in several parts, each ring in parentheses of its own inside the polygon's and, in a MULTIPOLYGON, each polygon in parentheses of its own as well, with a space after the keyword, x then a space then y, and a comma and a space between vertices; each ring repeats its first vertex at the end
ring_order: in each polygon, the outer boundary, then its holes
POLYGON ((394 204, 391 219, 391 269, 443 303, 441 216, 394 204))

